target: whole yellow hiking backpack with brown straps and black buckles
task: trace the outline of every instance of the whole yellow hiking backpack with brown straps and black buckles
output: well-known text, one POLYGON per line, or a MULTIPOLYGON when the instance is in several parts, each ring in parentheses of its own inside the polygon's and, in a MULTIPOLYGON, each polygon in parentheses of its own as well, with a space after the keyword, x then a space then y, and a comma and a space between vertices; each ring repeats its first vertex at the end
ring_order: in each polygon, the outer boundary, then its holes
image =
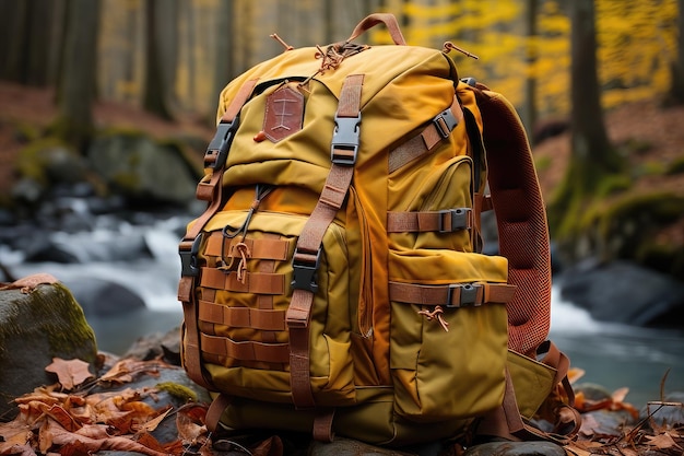
POLYGON ((459 79, 452 48, 405 46, 373 14, 222 92, 208 208, 179 247, 182 362, 216 393, 211 425, 387 445, 481 422, 521 436, 566 378, 524 130, 502 95, 459 79), (378 23, 397 46, 353 43, 378 23), (492 206, 500 256, 480 253, 492 206))

